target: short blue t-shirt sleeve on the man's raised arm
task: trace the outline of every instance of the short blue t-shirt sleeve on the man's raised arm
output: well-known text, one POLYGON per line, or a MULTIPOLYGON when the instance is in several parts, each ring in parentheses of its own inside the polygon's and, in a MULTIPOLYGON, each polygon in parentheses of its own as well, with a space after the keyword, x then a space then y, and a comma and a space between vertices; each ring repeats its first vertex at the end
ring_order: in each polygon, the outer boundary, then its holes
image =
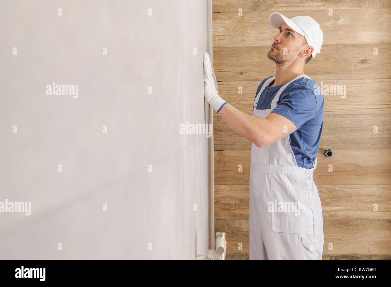
POLYGON ((280 102, 273 109, 300 128, 303 123, 316 117, 317 103, 315 94, 303 87, 295 87, 280 96, 280 102))

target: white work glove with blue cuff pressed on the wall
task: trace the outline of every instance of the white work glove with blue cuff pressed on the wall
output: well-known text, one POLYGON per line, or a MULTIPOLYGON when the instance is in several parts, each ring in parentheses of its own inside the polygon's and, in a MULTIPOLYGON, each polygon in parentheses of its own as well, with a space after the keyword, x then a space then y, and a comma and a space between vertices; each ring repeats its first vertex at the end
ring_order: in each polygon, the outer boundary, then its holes
POLYGON ((204 53, 204 97, 216 112, 219 111, 221 106, 226 102, 219 95, 215 71, 213 71, 209 54, 206 52, 204 53))

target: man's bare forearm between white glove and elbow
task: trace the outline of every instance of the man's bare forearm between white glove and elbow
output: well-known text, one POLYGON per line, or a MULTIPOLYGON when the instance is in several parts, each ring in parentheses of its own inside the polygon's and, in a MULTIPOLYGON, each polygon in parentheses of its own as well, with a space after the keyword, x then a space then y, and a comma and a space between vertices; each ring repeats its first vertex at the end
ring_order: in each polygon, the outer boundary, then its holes
POLYGON ((222 107, 219 115, 235 132, 256 146, 263 147, 267 142, 266 119, 242 112, 230 103, 222 107))

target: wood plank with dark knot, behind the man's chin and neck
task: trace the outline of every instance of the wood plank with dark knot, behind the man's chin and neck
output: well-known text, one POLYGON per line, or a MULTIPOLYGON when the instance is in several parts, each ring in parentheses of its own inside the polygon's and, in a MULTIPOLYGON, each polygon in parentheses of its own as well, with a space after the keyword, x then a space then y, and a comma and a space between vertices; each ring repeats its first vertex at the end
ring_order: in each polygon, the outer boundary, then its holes
MULTIPOLYGON (((213 68, 217 81, 258 81, 274 75, 276 64, 267 57, 269 46, 215 47, 213 68)), ((315 59, 314 59, 315 60, 315 59)), ((391 78, 391 45, 325 45, 316 61, 305 65, 309 77, 334 79, 391 78), (373 55, 378 48, 378 55, 373 55)), ((364 88, 364 87, 363 87, 364 88)))

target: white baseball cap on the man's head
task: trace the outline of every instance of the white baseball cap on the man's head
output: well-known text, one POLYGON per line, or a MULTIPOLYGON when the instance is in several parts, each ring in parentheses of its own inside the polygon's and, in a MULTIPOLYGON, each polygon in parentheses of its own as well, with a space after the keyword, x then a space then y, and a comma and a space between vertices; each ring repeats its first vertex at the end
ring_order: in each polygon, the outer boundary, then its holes
POLYGON ((269 17, 269 22, 277 29, 280 29, 281 24, 285 22, 292 30, 303 35, 308 45, 314 47, 312 58, 320 52, 323 43, 323 32, 320 29, 320 24, 310 16, 296 16, 289 19, 278 12, 273 12, 269 17))

